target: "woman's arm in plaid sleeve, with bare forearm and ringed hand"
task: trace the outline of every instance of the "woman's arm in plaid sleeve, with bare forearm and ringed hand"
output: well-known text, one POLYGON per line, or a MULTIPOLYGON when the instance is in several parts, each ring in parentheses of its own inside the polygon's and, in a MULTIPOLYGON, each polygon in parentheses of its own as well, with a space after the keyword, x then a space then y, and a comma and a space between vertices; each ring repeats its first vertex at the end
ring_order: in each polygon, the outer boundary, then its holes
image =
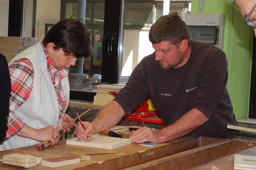
POLYGON ((11 138, 14 135, 19 135, 37 141, 51 140, 52 144, 56 144, 59 139, 54 139, 53 136, 54 134, 59 135, 58 130, 54 129, 52 126, 48 126, 42 129, 34 129, 27 126, 22 122, 22 120, 13 114, 13 112, 28 99, 32 90, 33 66, 31 62, 25 58, 19 59, 9 66, 9 71, 12 84, 11 95, 19 96, 19 99, 13 98, 12 96, 10 98, 8 130, 6 131, 5 140, 11 138), (22 71, 24 71, 24 73, 21 73, 22 71), (20 83, 20 81, 23 83, 20 83), (24 85, 20 86, 20 84, 24 85))

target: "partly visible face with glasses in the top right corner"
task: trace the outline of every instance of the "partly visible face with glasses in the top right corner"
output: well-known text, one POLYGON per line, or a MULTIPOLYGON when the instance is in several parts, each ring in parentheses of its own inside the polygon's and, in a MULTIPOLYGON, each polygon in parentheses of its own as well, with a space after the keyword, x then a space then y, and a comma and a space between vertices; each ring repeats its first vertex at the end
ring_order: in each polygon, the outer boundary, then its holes
POLYGON ((236 3, 246 18, 244 22, 254 28, 256 37, 256 0, 236 0, 236 3))

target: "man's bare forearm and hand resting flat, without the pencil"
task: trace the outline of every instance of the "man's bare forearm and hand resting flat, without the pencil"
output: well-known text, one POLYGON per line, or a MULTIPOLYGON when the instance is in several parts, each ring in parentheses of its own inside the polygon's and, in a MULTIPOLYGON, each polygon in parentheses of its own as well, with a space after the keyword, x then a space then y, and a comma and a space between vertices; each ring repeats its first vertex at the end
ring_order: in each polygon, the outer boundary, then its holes
POLYGON ((208 118, 198 109, 191 109, 172 125, 159 131, 150 128, 140 128, 132 131, 130 139, 132 142, 142 143, 146 141, 161 143, 187 135, 199 126, 203 125, 208 118))

